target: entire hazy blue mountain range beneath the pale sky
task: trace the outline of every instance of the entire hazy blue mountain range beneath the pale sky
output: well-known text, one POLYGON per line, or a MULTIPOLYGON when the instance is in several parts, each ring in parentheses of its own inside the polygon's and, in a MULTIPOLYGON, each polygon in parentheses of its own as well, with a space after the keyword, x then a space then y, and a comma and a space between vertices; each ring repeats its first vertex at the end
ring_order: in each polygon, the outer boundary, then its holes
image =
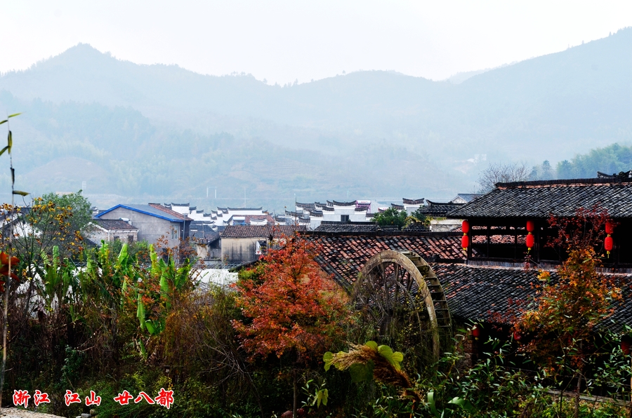
POLYGON ((211 207, 244 203, 245 188, 246 204, 277 209, 294 194, 449 198, 489 162, 632 142, 632 28, 438 82, 369 71, 269 86, 79 44, 0 76, 0 111, 25 111, 15 163, 36 193, 85 181, 87 194, 211 207))

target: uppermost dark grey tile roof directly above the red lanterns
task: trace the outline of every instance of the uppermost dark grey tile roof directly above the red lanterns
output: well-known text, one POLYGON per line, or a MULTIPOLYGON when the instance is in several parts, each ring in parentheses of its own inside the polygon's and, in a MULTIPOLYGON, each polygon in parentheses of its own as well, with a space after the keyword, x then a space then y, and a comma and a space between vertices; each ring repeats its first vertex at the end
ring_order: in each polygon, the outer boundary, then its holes
POLYGON ((632 217, 632 181, 577 179, 499 183, 496 189, 452 210, 454 218, 570 217, 578 208, 599 205, 610 217, 632 217))

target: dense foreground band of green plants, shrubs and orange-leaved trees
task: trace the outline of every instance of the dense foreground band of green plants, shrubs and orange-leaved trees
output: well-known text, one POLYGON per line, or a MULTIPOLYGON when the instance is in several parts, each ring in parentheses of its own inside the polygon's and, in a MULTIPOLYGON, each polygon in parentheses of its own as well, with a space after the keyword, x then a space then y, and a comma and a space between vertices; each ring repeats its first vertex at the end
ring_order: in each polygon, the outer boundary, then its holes
MULTIPOLYGON (((38 204, 43 216, 63 215, 58 229, 68 226, 67 207, 38 204)), ((103 418, 267 418, 287 410, 312 417, 623 417, 616 402, 582 400, 574 391, 630 395, 620 337, 595 328, 621 297, 596 271, 592 250, 607 217, 583 211, 551 222, 558 222, 557 244, 571 249, 560 281, 543 274, 539 304, 516 305, 497 329, 457 327, 438 361, 412 344, 406 327, 382 337, 298 237, 279 242, 229 288, 199 283, 193 261, 176 264, 168 248, 136 245, 132 254, 117 243, 116 252, 105 244, 60 255, 58 245, 45 245, 34 248, 37 259, 16 251, 17 281, 6 289, 4 403, 16 389, 48 393, 51 403, 40 411, 96 409, 103 418), (473 364, 464 357, 468 344, 482 348, 473 364), (114 400, 124 391, 151 400, 162 389, 173 391, 169 409, 114 400), (66 406, 68 390, 82 402, 66 406), (100 405, 85 405, 90 391, 100 405)))

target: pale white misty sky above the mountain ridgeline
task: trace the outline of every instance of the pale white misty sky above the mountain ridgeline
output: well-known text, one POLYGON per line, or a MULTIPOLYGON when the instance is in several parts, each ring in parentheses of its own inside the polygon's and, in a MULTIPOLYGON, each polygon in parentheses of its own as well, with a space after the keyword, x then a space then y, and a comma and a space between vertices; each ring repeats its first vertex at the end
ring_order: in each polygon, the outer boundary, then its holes
POLYGON ((140 64, 299 83, 388 69, 429 79, 632 26, 632 1, 8 1, 0 72, 79 42, 140 64))

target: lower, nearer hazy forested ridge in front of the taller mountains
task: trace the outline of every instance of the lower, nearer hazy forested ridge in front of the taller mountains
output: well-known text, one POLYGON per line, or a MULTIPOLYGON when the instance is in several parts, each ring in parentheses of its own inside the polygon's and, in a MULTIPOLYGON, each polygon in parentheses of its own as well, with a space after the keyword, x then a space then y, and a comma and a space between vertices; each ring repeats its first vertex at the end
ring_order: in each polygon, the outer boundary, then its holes
MULTIPOLYGON (((454 183, 444 175, 432 184, 416 184, 407 173, 416 170, 427 177, 440 170, 423 156, 390 144, 326 156, 263 140, 237 140, 228 133, 154 126, 131 107, 19 101, 6 91, 0 94, 1 107, 24 111, 11 126, 16 184, 35 195, 77 191, 86 182, 88 195, 114 194, 126 201, 177 198, 212 208, 241 205, 246 192, 246 203, 279 209, 294 194, 299 200, 371 196, 383 190, 448 195, 454 183)), ((8 173, 2 173, 0 194, 10 184, 8 173)))

